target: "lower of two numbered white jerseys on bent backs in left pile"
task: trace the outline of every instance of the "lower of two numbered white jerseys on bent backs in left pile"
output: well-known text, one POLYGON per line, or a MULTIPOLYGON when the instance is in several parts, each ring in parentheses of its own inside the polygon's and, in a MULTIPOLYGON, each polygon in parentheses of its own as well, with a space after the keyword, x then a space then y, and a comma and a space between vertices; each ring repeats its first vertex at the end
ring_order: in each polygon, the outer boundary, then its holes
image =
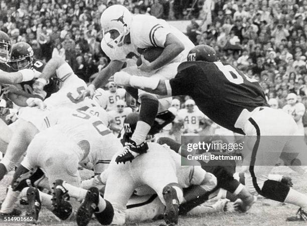
POLYGON ((49 123, 49 127, 54 127, 66 134, 76 143, 87 141, 89 149, 77 153, 83 159, 80 160, 82 166, 94 166, 95 173, 105 170, 111 161, 112 156, 121 151, 120 141, 96 116, 87 114, 81 110, 61 108, 50 111, 44 121, 49 123))

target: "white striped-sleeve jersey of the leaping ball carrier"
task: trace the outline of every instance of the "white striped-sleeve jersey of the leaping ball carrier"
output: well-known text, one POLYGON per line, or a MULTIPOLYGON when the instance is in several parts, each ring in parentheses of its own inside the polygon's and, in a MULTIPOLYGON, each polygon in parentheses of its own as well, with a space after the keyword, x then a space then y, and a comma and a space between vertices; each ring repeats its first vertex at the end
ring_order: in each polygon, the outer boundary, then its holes
POLYGON ((111 60, 123 62, 134 60, 136 62, 142 49, 149 47, 164 48, 167 35, 170 33, 174 34, 185 46, 185 50, 172 62, 185 61, 189 51, 194 47, 191 40, 178 29, 170 26, 165 20, 148 15, 134 15, 132 17, 130 26, 131 44, 110 48, 105 40, 102 40, 101 48, 111 60))

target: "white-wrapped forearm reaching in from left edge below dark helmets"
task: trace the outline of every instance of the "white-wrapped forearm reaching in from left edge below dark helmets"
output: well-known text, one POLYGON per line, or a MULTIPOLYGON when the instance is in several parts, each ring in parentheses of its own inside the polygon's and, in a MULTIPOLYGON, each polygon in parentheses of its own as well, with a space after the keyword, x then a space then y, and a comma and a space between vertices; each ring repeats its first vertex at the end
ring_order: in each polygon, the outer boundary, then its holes
POLYGON ((30 81, 34 78, 34 71, 31 69, 23 69, 17 72, 6 72, 0 70, 0 83, 18 84, 23 81, 30 81))

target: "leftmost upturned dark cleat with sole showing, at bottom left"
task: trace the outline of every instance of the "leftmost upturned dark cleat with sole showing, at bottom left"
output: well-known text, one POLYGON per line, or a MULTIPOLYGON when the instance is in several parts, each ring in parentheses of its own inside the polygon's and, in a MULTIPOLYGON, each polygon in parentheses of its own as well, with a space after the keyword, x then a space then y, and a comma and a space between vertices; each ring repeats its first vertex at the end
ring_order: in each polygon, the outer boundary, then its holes
POLYGON ((28 209, 26 217, 33 217, 33 221, 36 222, 41 211, 41 199, 39 190, 35 187, 29 187, 27 190, 28 209))

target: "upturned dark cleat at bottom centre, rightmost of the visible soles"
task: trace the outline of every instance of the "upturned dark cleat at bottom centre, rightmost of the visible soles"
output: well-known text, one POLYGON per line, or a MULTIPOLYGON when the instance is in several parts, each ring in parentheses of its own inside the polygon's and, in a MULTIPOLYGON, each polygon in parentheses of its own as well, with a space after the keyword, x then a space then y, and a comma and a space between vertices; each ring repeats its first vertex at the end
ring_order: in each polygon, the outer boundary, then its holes
POLYGON ((165 186, 163 188, 163 197, 166 203, 166 209, 164 212, 164 221, 167 225, 178 224, 178 212, 179 212, 179 199, 177 192, 172 186, 165 186))

